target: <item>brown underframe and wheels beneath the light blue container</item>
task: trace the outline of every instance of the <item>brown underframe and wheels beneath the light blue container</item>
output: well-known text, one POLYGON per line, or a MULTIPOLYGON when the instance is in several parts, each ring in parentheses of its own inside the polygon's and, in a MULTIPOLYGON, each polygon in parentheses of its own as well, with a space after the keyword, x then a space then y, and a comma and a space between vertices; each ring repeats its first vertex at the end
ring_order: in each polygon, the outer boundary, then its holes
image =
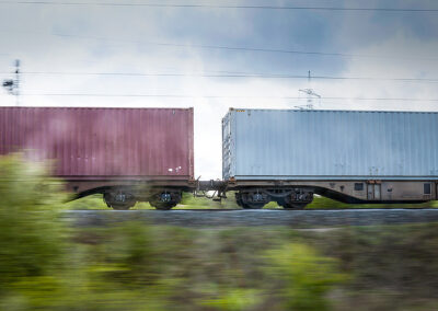
POLYGON ((223 193, 235 192, 238 205, 262 208, 276 201, 287 209, 302 209, 318 194, 349 204, 416 204, 438 199, 437 181, 333 180, 333 181, 242 181, 231 178, 223 193))

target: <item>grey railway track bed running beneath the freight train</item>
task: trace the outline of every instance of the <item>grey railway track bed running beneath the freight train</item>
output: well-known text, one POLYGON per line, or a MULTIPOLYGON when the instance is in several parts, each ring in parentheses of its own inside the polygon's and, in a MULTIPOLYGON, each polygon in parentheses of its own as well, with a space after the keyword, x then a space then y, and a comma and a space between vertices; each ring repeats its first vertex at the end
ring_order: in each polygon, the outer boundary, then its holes
POLYGON ((438 222, 438 209, 347 209, 347 210, 68 210, 62 218, 73 227, 108 226, 123 221, 181 227, 291 228, 376 226, 438 222))

